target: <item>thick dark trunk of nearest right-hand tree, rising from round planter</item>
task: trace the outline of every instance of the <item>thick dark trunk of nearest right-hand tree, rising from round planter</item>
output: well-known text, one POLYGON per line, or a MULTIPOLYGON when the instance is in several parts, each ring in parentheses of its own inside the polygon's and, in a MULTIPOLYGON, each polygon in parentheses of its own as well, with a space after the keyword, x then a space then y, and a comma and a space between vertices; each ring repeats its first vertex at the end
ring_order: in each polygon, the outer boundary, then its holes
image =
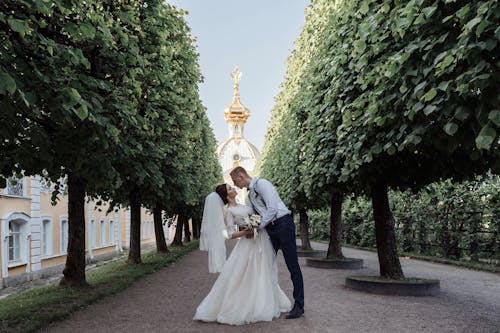
POLYGON ((402 279, 404 275, 398 258, 396 236, 394 234, 394 217, 389 208, 385 180, 377 179, 373 183, 371 196, 380 276, 390 279, 402 279))

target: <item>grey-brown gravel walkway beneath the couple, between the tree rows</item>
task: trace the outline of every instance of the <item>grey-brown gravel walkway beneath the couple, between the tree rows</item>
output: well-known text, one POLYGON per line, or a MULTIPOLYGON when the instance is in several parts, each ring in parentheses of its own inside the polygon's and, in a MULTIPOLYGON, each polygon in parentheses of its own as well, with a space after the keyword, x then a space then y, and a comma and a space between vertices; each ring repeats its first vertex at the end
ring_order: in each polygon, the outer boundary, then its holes
MULTIPOLYGON (((326 244, 313 243, 316 249, 326 244)), ((500 275, 449 265, 401 259, 406 276, 438 278, 435 297, 380 296, 344 287, 352 274, 378 274, 376 253, 344 249, 365 260, 362 270, 325 270, 300 259, 306 313, 246 326, 192 320, 216 275, 207 255, 194 251, 131 288, 75 313, 43 332, 496 332, 500 330, 500 275)), ((280 285, 291 297, 292 284, 281 252, 280 285)))

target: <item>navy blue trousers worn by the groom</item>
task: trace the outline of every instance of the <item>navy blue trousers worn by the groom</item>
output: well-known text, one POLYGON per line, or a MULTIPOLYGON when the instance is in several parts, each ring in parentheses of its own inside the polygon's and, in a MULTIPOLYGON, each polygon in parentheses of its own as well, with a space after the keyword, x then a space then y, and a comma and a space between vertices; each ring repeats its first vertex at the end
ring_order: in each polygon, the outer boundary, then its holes
POLYGON ((285 258, 286 266, 290 272, 293 283, 293 298, 295 304, 304 307, 304 281, 302 271, 297 257, 297 244, 295 242, 295 224, 292 215, 286 215, 280 218, 275 225, 269 223, 266 226, 267 233, 271 238, 274 251, 278 253, 281 249, 285 258))

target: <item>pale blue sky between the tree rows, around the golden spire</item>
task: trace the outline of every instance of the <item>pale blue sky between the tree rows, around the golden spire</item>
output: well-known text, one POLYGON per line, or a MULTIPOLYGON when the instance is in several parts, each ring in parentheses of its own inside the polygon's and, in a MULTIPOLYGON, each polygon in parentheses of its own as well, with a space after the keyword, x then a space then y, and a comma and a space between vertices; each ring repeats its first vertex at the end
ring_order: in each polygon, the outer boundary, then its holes
POLYGON ((224 108, 231 103, 238 66, 241 102, 250 109, 244 136, 262 151, 286 60, 304 24, 309 0, 167 0, 189 12, 204 77, 200 97, 217 142, 228 137, 224 108))

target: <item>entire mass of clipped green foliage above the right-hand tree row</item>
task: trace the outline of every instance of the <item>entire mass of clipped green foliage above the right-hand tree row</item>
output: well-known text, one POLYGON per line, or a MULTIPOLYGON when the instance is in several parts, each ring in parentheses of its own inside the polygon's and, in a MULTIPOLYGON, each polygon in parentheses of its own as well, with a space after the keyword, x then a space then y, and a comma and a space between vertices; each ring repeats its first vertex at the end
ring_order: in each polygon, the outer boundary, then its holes
POLYGON ((377 177, 418 189, 497 170, 496 1, 310 8, 321 10, 308 12, 290 57, 263 175, 318 202, 318 193, 366 191, 377 177))

